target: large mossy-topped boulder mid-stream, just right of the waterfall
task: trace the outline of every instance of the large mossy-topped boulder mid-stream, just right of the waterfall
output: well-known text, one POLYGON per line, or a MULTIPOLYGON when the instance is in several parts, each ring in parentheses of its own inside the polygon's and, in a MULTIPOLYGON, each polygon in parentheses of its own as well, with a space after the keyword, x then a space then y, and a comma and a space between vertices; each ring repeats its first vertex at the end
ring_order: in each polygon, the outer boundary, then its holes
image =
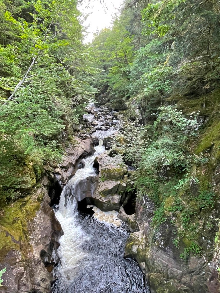
POLYGON ((77 183, 74 196, 78 201, 88 199, 103 211, 119 210, 126 199, 126 189, 133 185, 128 180, 127 166, 120 155, 109 157, 105 152, 95 158, 96 176, 89 176, 77 183))

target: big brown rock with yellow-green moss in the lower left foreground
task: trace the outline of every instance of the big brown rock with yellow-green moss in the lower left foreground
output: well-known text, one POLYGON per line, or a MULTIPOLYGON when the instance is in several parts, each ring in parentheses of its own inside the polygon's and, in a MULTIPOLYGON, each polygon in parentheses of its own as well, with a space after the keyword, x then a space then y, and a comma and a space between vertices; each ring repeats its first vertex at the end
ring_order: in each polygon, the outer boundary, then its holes
POLYGON ((63 231, 50 207, 47 186, 45 179, 32 195, 1 211, 0 267, 7 269, 1 292, 51 291, 63 231))

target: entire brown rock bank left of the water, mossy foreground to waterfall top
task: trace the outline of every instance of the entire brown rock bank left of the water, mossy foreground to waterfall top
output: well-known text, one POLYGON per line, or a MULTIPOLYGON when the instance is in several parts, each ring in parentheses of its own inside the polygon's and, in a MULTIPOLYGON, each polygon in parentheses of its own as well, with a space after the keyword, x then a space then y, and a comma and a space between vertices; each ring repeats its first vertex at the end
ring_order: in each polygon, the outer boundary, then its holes
POLYGON ((94 153, 92 143, 92 138, 76 138, 75 146, 65 149, 59 165, 44 167, 46 176, 38 183, 40 188, 32 188, 30 195, 0 210, 0 270, 7 269, 1 292, 51 292, 63 231, 50 207, 48 190, 55 196, 61 192, 61 186, 80 165, 80 158, 94 153))

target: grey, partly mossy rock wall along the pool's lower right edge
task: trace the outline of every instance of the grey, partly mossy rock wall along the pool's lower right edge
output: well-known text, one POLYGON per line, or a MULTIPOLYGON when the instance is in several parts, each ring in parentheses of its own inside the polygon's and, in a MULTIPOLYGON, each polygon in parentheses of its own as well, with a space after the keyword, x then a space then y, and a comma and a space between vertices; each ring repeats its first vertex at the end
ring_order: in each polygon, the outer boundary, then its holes
MULTIPOLYGON (((217 293, 218 274, 206 255, 180 258, 172 239, 172 224, 167 221, 158 231, 152 231, 150 222, 154 205, 146 196, 136 204, 136 214, 141 232, 132 233, 126 244, 125 256, 138 261, 149 282, 151 293, 217 293)), ((180 243, 181 245, 181 243, 180 243)))

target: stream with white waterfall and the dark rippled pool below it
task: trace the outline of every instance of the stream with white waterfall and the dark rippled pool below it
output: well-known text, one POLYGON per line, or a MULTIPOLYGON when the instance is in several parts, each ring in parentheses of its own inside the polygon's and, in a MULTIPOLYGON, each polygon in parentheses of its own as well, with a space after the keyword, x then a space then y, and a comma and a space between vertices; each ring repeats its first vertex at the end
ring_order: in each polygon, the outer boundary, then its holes
MULTIPOLYGON (((92 119, 89 115, 86 118, 92 119)), ((105 136, 112 131, 105 132, 105 136)), ((103 138, 104 132, 101 134, 103 138)), ((77 209, 75 197, 80 192, 77 184, 88 176, 97 175, 93 162, 97 155, 105 151, 101 139, 95 149, 94 155, 83 159, 84 168, 78 169, 68 181, 59 206, 54 208, 64 235, 60 238, 58 249, 60 263, 55 268, 58 280, 53 284, 52 292, 149 293, 136 260, 123 258, 129 230, 125 223, 117 219, 117 212, 107 212, 106 219, 110 220, 99 221, 93 215, 96 207, 87 206, 88 213, 77 209)))

